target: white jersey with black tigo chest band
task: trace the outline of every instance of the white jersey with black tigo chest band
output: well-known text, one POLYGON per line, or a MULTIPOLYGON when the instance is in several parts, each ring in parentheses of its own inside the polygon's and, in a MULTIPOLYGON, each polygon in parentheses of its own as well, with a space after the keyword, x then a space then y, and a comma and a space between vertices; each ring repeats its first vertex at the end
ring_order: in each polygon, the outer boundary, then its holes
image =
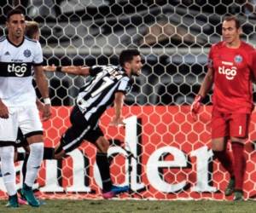
POLYGON ((25 37, 17 46, 8 37, 0 37, 0 98, 7 107, 35 103, 32 66, 42 63, 43 52, 37 41, 25 37))

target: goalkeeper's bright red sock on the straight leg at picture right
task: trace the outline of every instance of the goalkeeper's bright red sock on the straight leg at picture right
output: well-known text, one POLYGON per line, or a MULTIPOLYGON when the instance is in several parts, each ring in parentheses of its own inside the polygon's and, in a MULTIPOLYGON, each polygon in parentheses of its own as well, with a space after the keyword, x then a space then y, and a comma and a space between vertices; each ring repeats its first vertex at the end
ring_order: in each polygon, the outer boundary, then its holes
POLYGON ((234 156, 234 174, 235 174, 235 179, 236 179, 236 185, 235 189, 236 190, 242 190, 242 185, 243 185, 243 176, 246 170, 246 159, 244 157, 244 145, 232 141, 232 150, 233 150, 233 156, 234 156))

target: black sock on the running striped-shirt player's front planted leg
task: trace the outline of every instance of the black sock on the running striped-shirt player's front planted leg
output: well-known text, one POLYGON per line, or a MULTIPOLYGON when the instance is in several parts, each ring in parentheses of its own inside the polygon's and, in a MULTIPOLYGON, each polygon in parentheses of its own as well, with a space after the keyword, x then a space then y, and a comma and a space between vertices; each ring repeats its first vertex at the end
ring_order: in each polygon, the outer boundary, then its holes
POLYGON ((96 153, 96 164, 99 167, 102 177, 102 190, 103 192, 108 192, 111 190, 112 181, 110 178, 107 153, 96 153))

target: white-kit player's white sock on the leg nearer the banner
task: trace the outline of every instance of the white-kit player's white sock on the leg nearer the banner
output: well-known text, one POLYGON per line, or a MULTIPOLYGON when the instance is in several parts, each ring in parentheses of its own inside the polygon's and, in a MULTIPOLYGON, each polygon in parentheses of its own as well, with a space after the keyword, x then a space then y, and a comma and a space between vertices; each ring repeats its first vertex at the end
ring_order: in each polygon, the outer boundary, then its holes
POLYGON ((26 163, 26 186, 32 187, 38 176, 38 170, 44 157, 44 142, 29 145, 30 153, 26 163))

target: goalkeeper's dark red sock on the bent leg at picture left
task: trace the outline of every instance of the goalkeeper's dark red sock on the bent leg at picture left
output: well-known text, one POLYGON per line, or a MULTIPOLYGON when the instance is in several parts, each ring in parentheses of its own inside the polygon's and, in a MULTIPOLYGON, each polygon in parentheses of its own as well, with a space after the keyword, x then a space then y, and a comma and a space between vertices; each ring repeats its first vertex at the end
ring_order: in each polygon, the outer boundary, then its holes
POLYGON ((230 173, 230 177, 232 178, 234 176, 234 170, 230 152, 228 152, 227 150, 213 151, 213 154, 216 158, 218 158, 218 161, 220 162, 220 164, 222 164, 224 169, 230 173))

